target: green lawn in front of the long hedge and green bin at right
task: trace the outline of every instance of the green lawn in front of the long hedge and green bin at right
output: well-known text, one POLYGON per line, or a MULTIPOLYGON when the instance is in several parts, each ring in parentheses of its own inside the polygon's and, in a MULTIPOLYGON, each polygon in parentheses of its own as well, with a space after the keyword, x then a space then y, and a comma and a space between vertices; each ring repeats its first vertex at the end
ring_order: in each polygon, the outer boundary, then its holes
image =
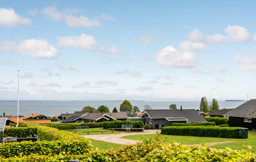
MULTIPOLYGON (((154 138, 156 134, 144 134, 144 135, 128 135, 122 138, 128 138, 133 140, 141 140, 147 138, 154 138)), ((211 143, 211 142, 224 142, 224 141, 237 141, 225 144, 213 145, 212 148, 232 148, 240 149, 242 145, 250 145, 252 149, 243 147, 247 151, 256 152, 256 133, 248 132, 248 139, 234 139, 234 138, 216 138, 216 137, 194 137, 194 136, 172 136, 172 135, 161 135, 160 138, 163 140, 166 138, 166 142, 172 143, 173 141, 182 144, 200 144, 200 143, 211 143)))

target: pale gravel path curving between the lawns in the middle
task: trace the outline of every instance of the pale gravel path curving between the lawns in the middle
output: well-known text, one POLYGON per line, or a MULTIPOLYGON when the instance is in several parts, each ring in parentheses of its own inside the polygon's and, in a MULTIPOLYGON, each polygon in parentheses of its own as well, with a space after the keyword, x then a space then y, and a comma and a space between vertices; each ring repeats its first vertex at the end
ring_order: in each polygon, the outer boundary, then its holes
POLYGON ((84 135, 85 138, 90 138, 93 140, 99 140, 99 141, 105 141, 105 142, 111 142, 111 143, 117 143, 117 144, 127 144, 131 143, 134 144, 136 142, 139 142, 140 140, 131 140, 126 138, 121 138, 128 135, 137 135, 137 134, 156 134, 161 132, 160 129, 146 129, 144 132, 121 132, 119 134, 95 134, 95 135, 84 135))

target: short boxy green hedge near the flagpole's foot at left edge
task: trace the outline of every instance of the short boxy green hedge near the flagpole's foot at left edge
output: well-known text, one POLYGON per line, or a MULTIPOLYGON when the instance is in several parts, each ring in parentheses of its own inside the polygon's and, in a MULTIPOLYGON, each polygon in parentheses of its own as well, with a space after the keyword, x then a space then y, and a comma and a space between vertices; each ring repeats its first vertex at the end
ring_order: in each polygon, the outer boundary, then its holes
POLYGON ((7 127, 4 129, 3 138, 4 137, 17 137, 17 138, 26 138, 26 137, 34 137, 34 134, 37 134, 37 127, 7 127))

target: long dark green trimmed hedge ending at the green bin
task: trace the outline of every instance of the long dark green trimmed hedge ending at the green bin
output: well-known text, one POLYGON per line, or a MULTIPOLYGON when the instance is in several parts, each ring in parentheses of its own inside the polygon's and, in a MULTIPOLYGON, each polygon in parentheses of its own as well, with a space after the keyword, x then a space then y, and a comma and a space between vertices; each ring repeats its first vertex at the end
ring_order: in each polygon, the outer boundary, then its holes
POLYGON ((239 138, 241 127, 165 126, 161 134, 177 136, 239 138))

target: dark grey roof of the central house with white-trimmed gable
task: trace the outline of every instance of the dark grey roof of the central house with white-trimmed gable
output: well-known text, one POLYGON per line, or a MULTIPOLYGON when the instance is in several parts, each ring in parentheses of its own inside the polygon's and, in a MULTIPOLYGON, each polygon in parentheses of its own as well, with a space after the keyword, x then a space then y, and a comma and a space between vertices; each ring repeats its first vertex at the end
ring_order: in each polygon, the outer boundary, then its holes
POLYGON ((161 109, 161 110, 145 110, 140 117, 144 117, 146 113, 152 119, 161 119, 166 117, 185 117, 189 123, 207 122, 204 117, 198 114, 194 109, 161 109))

